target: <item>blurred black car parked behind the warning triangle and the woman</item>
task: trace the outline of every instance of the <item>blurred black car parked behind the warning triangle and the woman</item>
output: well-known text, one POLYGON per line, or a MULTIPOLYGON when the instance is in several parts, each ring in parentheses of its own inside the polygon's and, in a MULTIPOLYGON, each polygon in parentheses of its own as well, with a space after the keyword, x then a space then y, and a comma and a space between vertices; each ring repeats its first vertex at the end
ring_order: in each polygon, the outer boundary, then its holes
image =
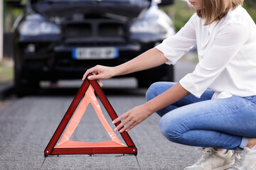
MULTIPOLYGON (((24 8, 13 27, 17 94, 37 90, 40 81, 81 79, 96 64, 122 64, 175 32, 154 0, 7 3, 24 8)), ((174 70, 163 64, 125 77, 136 77, 139 87, 147 87, 154 81, 173 81, 174 70)))

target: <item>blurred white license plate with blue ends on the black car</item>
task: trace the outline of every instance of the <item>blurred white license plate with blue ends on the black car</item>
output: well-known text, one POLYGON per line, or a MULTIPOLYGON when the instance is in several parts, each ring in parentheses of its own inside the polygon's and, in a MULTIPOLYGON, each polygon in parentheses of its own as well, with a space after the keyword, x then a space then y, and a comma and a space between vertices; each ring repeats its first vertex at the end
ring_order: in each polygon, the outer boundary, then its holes
POLYGON ((77 47, 72 52, 75 60, 105 60, 119 56, 116 47, 77 47))

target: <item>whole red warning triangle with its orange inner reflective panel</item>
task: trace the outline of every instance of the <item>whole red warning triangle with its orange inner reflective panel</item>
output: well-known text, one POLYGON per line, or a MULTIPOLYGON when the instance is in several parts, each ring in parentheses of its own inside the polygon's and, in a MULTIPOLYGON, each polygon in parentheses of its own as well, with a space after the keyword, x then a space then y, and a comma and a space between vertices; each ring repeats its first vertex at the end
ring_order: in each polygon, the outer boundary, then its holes
MULTIPOLYGON (((90 76, 89 74, 88 76, 90 76)), ((100 85, 97 84, 95 80, 88 80, 87 78, 82 83, 78 94, 73 99, 68 111, 65 113, 63 120, 61 120, 60 125, 58 125, 57 130, 55 130, 53 137, 50 139, 44 154, 45 157, 50 155, 61 155, 61 154, 134 154, 137 155, 137 148, 132 142, 131 137, 127 132, 120 133, 125 144, 119 140, 117 135, 114 133, 109 123, 102 114, 100 104, 95 96, 97 94, 98 98, 105 107, 108 115, 112 120, 117 118, 117 113, 115 113, 112 108, 110 101, 103 93, 100 85), (111 140, 105 142, 78 142, 70 140, 71 135, 75 131, 75 128, 80 123, 82 116, 85 114, 88 104, 91 104, 97 113, 97 117, 100 119, 103 127, 110 135, 111 140)), ((86 116, 86 115, 85 115, 86 116)), ((119 122, 121 123, 121 122, 119 122)), ((116 123, 115 125, 119 125, 116 123)))

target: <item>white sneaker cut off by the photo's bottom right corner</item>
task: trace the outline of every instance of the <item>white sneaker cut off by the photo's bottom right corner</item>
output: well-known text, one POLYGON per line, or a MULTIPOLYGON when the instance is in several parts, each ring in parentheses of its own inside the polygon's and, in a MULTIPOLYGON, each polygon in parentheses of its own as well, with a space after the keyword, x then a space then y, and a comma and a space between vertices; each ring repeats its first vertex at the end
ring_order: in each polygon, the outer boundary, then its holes
POLYGON ((233 153, 235 164, 232 170, 255 170, 256 169, 256 150, 251 150, 247 147, 241 151, 235 150, 233 153))

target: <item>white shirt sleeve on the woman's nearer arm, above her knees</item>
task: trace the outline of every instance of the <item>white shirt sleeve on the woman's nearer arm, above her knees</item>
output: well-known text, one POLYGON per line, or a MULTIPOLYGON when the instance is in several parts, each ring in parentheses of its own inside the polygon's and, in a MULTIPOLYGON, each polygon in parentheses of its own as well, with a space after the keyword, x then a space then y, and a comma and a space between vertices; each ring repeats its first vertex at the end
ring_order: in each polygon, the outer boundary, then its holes
POLYGON ((239 52, 247 41, 248 34, 245 26, 240 23, 230 23, 221 27, 215 36, 213 46, 204 54, 196 69, 181 79, 181 86, 200 98, 239 52))

